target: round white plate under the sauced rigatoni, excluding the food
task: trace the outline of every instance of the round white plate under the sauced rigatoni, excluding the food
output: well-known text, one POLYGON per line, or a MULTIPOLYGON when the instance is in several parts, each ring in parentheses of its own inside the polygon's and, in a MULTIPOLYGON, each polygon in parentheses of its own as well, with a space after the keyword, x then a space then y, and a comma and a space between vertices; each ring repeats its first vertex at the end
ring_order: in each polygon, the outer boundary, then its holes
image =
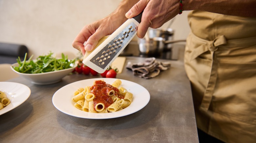
POLYGON ((122 84, 120 86, 126 88, 129 92, 133 93, 132 103, 123 110, 112 112, 112 113, 88 113, 82 110, 75 108, 74 102, 71 101, 74 92, 79 87, 92 86, 95 80, 103 79, 106 83, 112 84, 116 78, 93 78, 77 81, 71 84, 68 84, 59 90, 57 90, 53 95, 53 105, 61 112, 86 119, 110 119, 126 116, 132 113, 135 113, 145 107, 150 100, 149 92, 146 88, 141 85, 120 79, 122 84))

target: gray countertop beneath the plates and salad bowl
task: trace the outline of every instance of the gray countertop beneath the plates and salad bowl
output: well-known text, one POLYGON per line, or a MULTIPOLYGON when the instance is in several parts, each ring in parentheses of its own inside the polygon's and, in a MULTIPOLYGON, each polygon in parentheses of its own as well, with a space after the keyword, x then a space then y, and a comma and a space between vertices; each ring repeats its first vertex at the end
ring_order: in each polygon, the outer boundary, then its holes
MULTIPOLYGON (((137 63, 144 58, 127 57, 126 64, 128 61, 137 63)), ((73 117, 52 103, 59 88, 100 75, 73 74, 51 85, 34 85, 22 77, 11 79, 30 87, 31 95, 20 106, 0 115, 0 142, 199 142, 183 62, 170 62, 169 70, 152 79, 136 77, 125 68, 117 75, 145 87, 150 101, 138 112, 114 119, 73 117)))

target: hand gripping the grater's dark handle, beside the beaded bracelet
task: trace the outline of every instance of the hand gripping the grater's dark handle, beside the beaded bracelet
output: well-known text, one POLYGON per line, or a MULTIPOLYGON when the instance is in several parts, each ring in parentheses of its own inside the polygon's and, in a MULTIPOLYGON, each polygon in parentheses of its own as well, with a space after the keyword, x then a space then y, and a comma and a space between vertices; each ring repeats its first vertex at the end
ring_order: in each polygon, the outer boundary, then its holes
POLYGON ((178 0, 140 0, 126 14, 133 18, 142 12, 137 36, 143 38, 149 27, 159 28, 164 23, 179 14, 180 1, 178 0))

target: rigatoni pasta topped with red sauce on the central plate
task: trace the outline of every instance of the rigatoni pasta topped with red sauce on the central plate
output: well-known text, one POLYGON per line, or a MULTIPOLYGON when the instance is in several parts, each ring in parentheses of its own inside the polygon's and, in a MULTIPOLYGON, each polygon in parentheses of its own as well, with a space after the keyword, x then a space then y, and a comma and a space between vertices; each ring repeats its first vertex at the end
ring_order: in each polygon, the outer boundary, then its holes
POLYGON ((78 88, 71 100, 75 102, 77 109, 85 112, 116 112, 128 107, 133 99, 133 94, 124 87, 119 87, 120 85, 119 79, 112 85, 103 80, 96 80, 92 86, 78 88))

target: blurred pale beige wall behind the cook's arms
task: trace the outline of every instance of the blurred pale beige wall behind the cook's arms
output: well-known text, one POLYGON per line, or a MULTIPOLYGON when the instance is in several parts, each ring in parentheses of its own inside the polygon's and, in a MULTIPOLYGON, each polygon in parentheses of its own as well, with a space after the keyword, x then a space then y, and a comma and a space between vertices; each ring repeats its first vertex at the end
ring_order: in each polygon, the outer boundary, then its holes
MULTIPOLYGON (((72 41, 83 28, 109 15, 121 0, 0 0, 0 42, 24 44, 34 58, 52 51, 69 58, 79 55, 72 41)), ((170 26, 174 39, 190 31, 188 11, 177 15, 170 26)), ((171 21, 161 28, 167 28, 171 21)), ((134 40, 136 40, 135 37, 134 40)))

